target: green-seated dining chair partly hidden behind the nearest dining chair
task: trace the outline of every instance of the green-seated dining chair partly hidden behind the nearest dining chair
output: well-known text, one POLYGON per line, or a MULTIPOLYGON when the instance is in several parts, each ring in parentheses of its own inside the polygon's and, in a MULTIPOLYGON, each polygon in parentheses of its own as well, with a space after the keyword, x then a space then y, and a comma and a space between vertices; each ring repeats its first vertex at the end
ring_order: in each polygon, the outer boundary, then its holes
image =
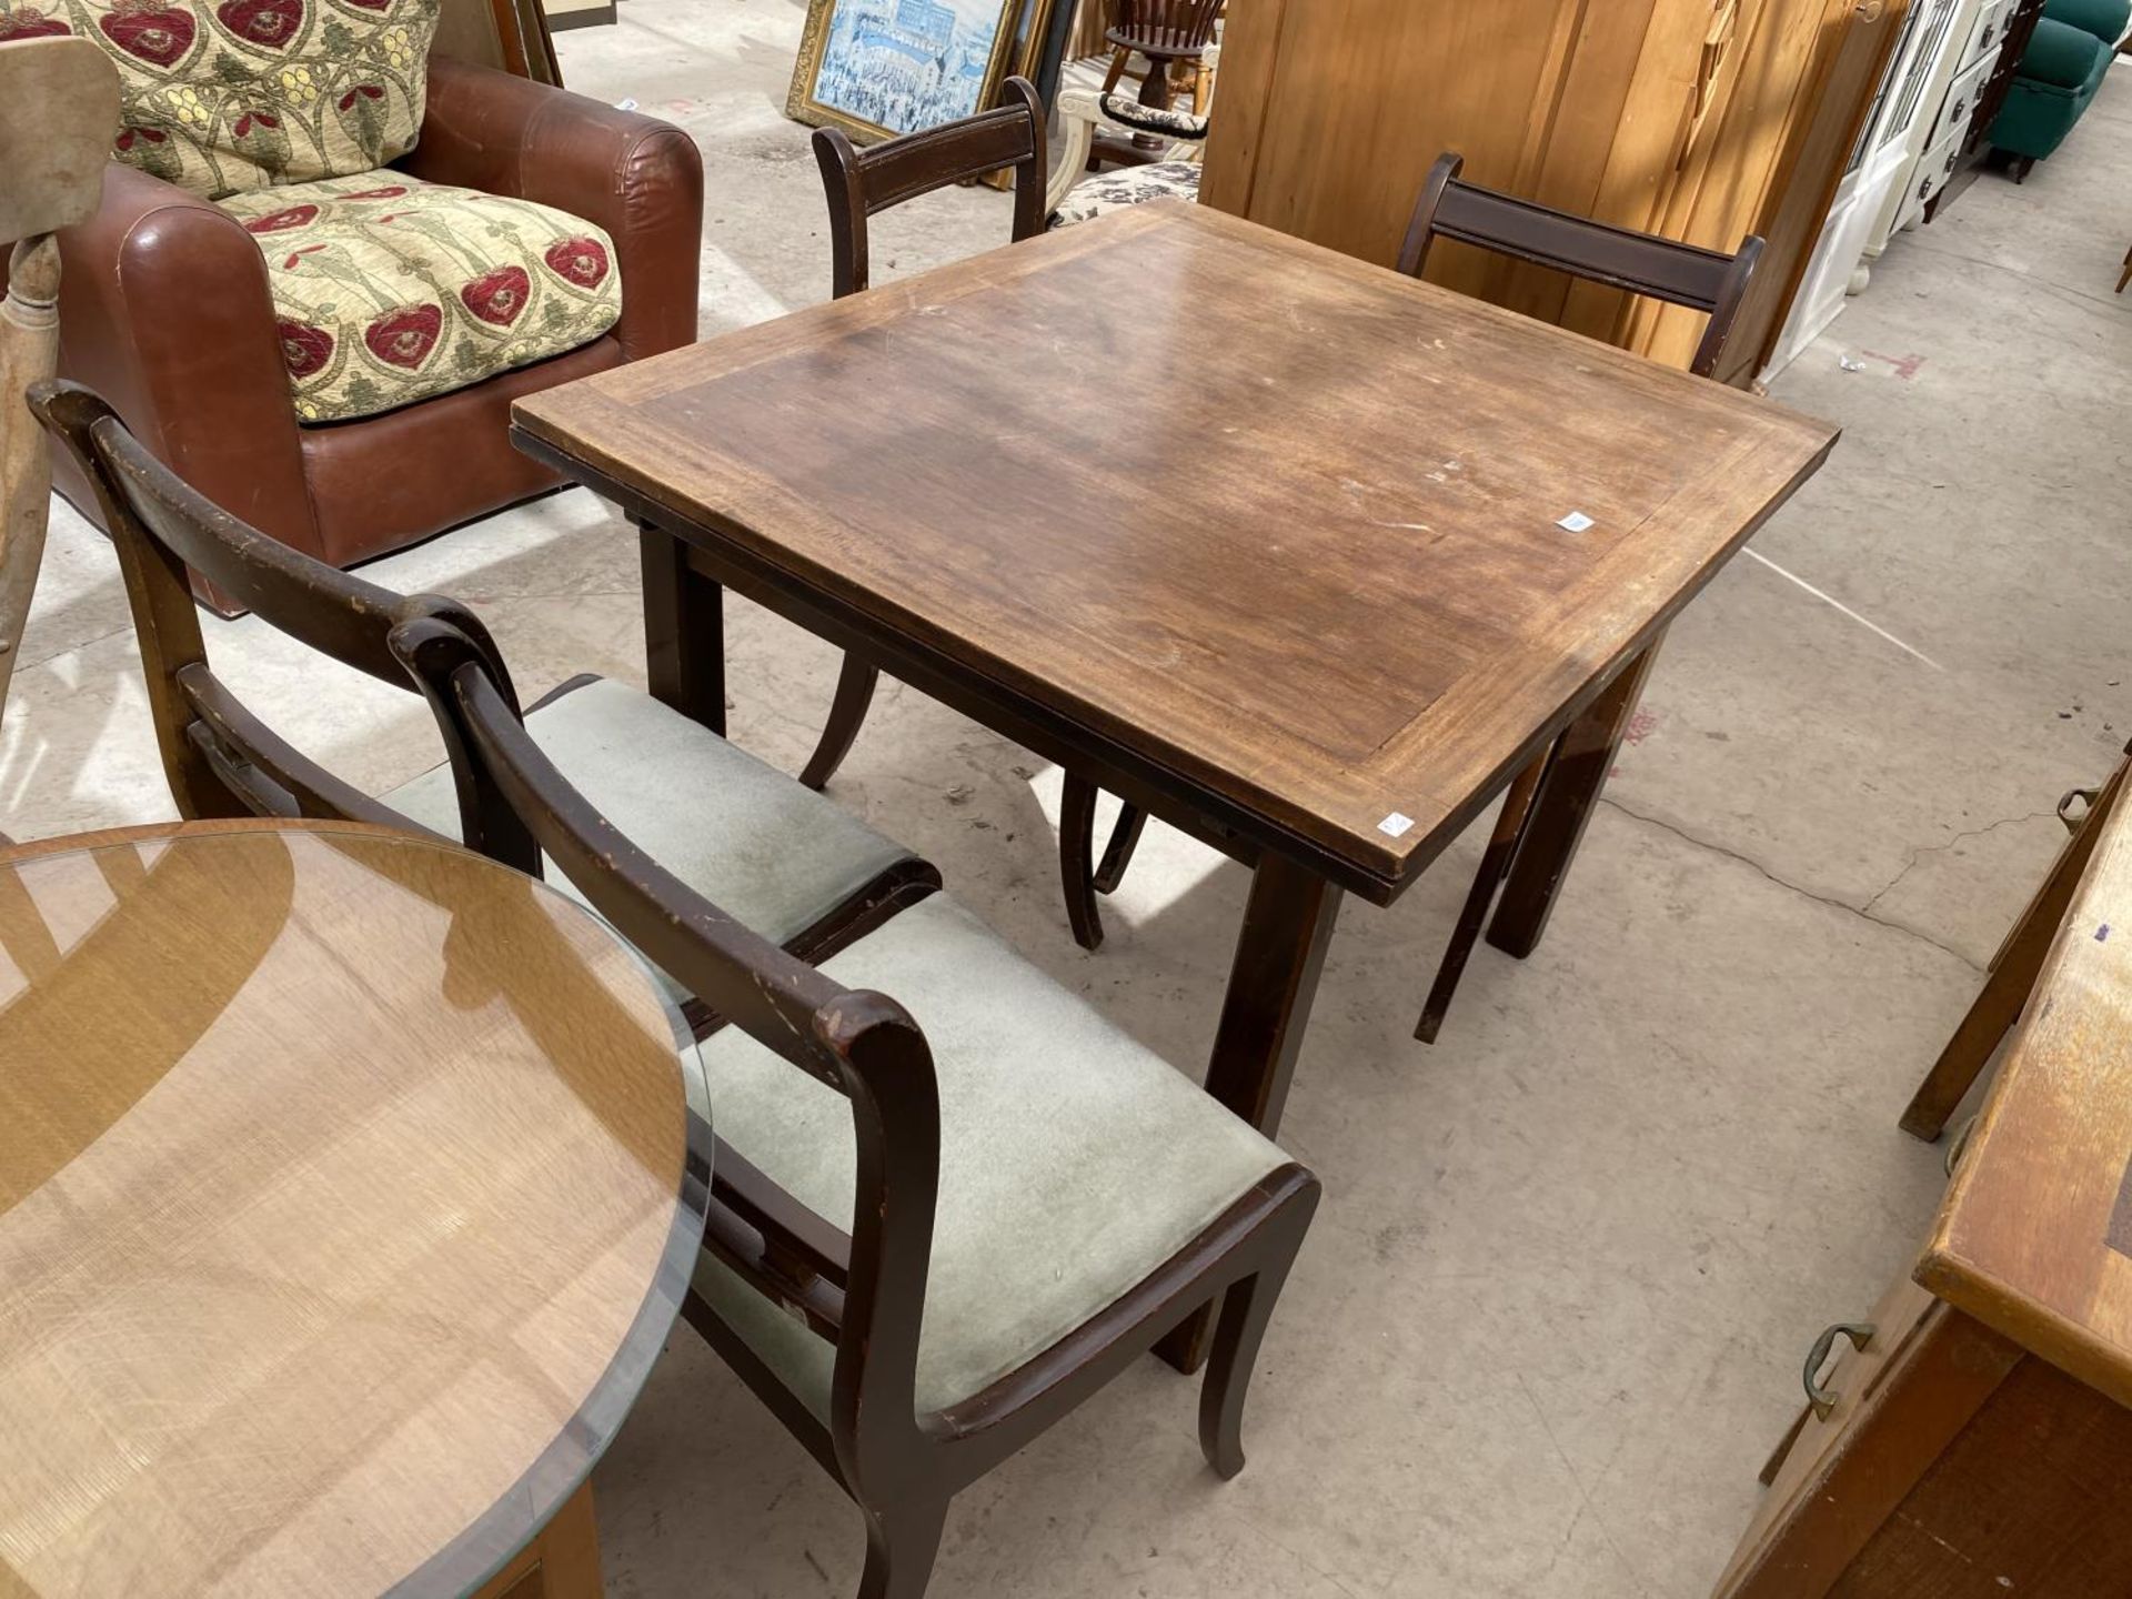
MULTIPOLYGON (((209 665, 188 567, 303 646, 416 693, 390 650, 414 618, 452 623, 482 650, 497 693, 518 706, 482 620, 456 599, 399 595, 316 561, 211 505, 151 456, 92 390, 45 382, 30 409, 72 452, 117 546, 147 676, 149 712, 179 814, 320 817, 403 827, 524 872, 542 857, 439 723, 448 761, 367 795, 262 723, 209 665)), ((578 676, 524 712, 542 748, 595 802, 648 840, 693 887, 789 949, 823 957, 940 874, 834 802, 620 682, 578 676)), ((567 885, 559 885, 567 887, 567 885)), ((706 1006, 676 1000, 701 1030, 706 1006)))

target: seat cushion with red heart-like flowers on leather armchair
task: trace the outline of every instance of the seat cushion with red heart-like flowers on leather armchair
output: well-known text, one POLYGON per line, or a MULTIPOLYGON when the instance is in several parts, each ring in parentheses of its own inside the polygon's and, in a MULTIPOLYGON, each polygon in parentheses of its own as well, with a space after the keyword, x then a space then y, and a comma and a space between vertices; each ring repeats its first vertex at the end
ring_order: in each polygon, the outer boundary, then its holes
POLYGON ((586 345, 623 313, 614 241, 533 200, 386 171, 222 209, 266 252, 301 422, 450 394, 586 345))

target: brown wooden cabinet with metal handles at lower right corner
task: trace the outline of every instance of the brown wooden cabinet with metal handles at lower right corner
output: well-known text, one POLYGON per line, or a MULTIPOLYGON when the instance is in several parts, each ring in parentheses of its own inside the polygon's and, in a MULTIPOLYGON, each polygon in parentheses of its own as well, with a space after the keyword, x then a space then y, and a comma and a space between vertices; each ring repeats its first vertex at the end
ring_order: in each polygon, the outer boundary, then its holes
POLYGON ((1915 1281, 1821 1377, 1718 1599, 2132 1593, 2132 808, 2094 827, 1915 1281))

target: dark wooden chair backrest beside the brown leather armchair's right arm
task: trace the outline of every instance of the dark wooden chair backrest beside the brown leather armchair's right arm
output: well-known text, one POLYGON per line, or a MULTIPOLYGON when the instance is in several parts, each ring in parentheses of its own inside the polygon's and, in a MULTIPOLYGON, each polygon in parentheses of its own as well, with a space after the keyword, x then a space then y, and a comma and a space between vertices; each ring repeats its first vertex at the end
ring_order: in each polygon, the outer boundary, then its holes
POLYGON ((814 160, 821 164, 821 185, 829 196, 836 298, 857 294, 870 281, 868 217, 949 183, 966 183, 1013 166, 1013 237, 1034 239, 1045 230, 1045 190, 1051 179, 1045 158, 1045 109, 1036 98, 1036 85, 1025 77, 1006 79, 994 111, 944 122, 872 149, 857 149, 840 128, 817 128, 814 160))

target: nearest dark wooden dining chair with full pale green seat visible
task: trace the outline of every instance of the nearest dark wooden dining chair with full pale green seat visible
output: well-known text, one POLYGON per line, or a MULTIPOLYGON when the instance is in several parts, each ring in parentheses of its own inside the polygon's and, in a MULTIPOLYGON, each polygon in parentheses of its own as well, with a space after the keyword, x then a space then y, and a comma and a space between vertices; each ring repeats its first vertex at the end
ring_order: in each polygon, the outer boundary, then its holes
POLYGON ((586 902, 731 1021, 684 1313, 859 1505, 861 1599, 923 1595, 949 1499, 1217 1294, 1200 1448, 1243 1467, 1311 1173, 944 893, 819 968, 759 938, 565 778, 478 637, 392 646, 586 902))

